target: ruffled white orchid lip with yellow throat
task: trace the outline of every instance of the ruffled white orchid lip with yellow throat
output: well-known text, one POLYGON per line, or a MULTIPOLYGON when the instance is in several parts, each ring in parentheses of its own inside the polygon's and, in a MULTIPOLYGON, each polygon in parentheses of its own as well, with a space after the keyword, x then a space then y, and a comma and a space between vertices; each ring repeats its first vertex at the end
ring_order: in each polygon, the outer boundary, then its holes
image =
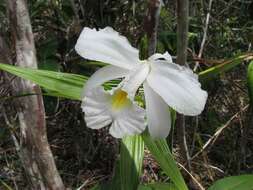
POLYGON ((139 134, 145 129, 144 109, 120 88, 105 91, 99 86, 89 90, 85 93, 82 109, 89 128, 100 129, 111 124, 109 133, 115 138, 139 134))

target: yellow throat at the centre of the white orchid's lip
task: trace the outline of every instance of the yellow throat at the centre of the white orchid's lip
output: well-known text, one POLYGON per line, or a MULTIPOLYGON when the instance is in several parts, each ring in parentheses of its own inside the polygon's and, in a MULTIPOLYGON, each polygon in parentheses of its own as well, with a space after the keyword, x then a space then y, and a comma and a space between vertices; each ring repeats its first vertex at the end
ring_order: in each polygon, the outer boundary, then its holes
POLYGON ((127 93, 123 90, 117 90, 112 96, 112 109, 118 110, 129 105, 130 100, 127 93))

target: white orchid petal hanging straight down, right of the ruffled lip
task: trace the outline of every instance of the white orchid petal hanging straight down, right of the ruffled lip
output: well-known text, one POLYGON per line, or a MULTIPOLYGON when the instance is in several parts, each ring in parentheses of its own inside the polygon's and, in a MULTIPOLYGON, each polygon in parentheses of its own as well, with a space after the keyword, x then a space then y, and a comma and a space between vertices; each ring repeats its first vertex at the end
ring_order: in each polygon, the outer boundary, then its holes
POLYGON ((153 138, 165 138, 171 128, 169 107, 147 82, 144 82, 143 87, 149 133, 153 138))

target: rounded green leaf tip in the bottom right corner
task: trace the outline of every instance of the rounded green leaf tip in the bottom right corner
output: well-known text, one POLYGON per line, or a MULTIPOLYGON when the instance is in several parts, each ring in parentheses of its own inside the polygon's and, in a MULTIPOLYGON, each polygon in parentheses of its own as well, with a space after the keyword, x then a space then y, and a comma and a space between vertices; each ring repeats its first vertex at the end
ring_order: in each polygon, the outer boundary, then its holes
POLYGON ((253 175, 226 177, 216 181, 208 190, 253 190, 253 175))

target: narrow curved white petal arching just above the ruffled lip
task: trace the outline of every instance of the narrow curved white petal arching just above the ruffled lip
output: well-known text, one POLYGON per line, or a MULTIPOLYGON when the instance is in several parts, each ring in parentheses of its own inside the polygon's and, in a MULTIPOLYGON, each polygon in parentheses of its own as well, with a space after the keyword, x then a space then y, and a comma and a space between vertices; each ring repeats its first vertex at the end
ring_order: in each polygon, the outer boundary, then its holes
POLYGON ((82 97, 84 97, 93 88, 96 88, 107 81, 122 78, 126 76, 128 72, 129 71, 126 69, 112 65, 107 65, 97 70, 86 82, 84 90, 82 92, 82 97))

